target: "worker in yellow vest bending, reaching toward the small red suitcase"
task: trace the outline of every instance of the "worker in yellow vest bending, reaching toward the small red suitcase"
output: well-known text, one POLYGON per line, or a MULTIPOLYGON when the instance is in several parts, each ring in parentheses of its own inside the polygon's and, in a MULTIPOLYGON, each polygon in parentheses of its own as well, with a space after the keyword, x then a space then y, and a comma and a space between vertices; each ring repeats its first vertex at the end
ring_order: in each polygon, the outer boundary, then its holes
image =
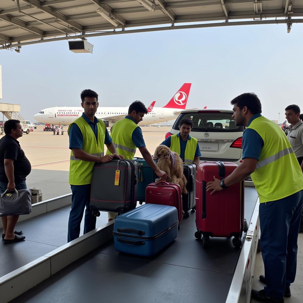
MULTIPOLYGON (((124 119, 116 122, 112 127, 111 137, 119 155, 125 159, 133 160, 136 149, 139 148, 146 163, 156 172, 162 180, 167 179, 165 171, 161 171, 155 164, 150 152, 146 148, 142 130, 138 123, 142 121, 147 109, 141 101, 133 102, 128 108, 128 114, 124 119)), ((109 152, 107 152, 109 154, 109 152)), ((108 221, 117 217, 115 212, 108 212, 108 221)))

